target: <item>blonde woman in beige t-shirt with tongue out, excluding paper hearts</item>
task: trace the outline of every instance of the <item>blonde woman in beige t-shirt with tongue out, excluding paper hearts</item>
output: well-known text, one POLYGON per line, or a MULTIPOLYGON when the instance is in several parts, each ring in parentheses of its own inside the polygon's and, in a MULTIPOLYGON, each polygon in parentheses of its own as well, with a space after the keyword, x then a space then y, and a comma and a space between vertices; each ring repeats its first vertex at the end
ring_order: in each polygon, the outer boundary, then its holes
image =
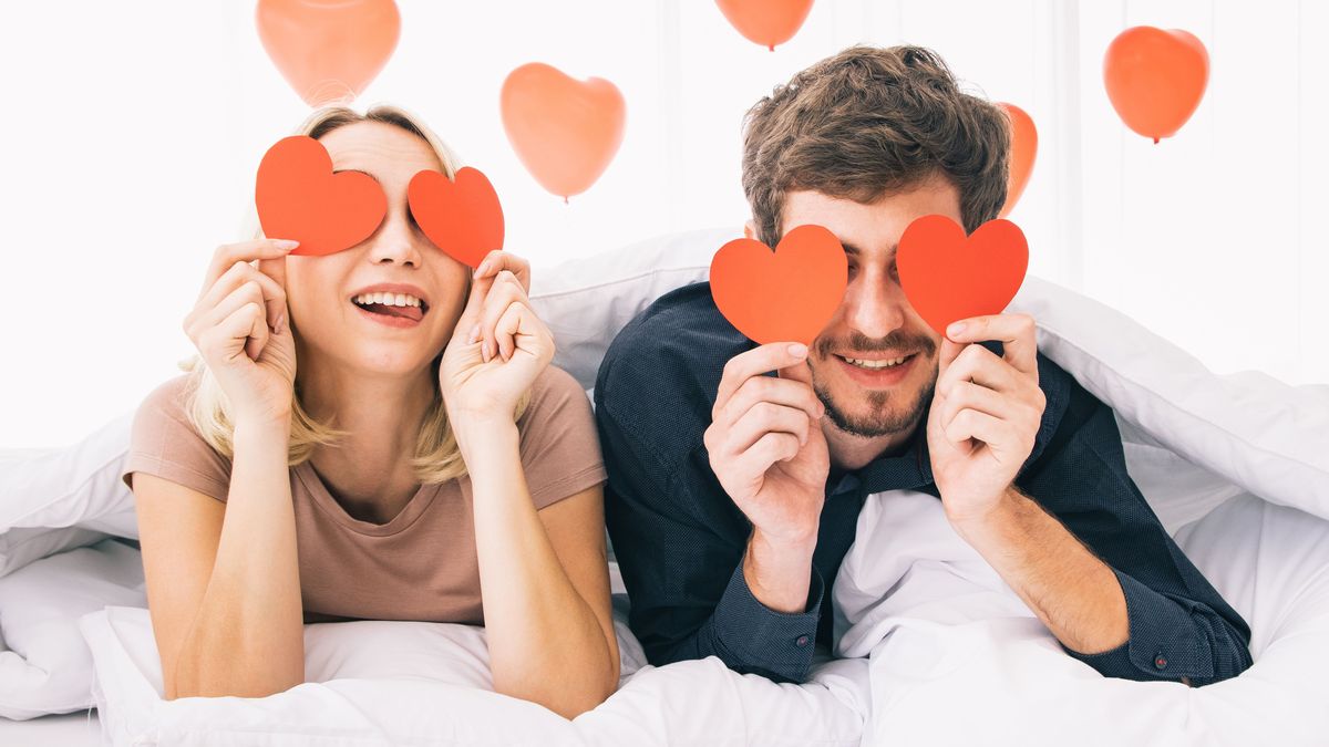
POLYGON ((303 622, 485 625, 493 686, 567 718, 618 682, 590 405, 550 367, 529 266, 474 274, 407 185, 456 163, 395 108, 316 112, 334 170, 383 186, 363 243, 222 246, 185 331, 193 371, 134 421, 134 492, 166 698, 304 681, 303 622))

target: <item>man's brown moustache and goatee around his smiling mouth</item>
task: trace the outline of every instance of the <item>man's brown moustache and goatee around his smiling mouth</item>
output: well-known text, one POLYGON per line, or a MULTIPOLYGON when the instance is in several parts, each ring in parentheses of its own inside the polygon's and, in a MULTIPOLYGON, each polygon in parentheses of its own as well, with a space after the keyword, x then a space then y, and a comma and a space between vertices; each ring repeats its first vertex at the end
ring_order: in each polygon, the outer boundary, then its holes
MULTIPOLYGON (((892 332, 881 340, 872 340, 870 338, 853 332, 849 335, 849 342, 852 344, 845 347, 861 352, 905 348, 916 351, 914 355, 917 358, 932 360, 932 352, 937 347, 936 343, 925 336, 905 336, 898 335, 897 332, 892 332)), ((815 347, 821 360, 831 363, 835 362, 835 354, 831 352, 836 347, 835 340, 819 339, 816 340, 815 347)), ((916 360, 914 363, 920 362, 916 360)), ((831 399, 831 389, 824 383, 817 381, 815 374, 812 376, 812 391, 816 392, 821 404, 827 407, 827 416, 831 417, 831 421, 835 423, 836 428, 844 431, 845 433, 859 436, 861 439, 878 439, 881 436, 893 436, 902 431, 913 429, 922 421, 924 409, 928 407, 936 384, 937 380, 933 377, 933 380, 918 392, 918 399, 902 408, 890 405, 901 404, 898 400, 904 392, 869 389, 865 393, 868 413, 851 415, 844 408, 839 407, 833 399, 831 399)))

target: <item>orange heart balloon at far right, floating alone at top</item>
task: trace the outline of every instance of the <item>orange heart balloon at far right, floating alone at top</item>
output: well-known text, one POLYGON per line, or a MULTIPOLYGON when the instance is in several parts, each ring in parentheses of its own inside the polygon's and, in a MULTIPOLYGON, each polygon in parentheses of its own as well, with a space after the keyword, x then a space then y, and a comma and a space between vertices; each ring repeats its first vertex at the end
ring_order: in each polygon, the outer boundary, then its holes
POLYGON ((1193 35, 1135 27, 1103 56, 1103 82, 1126 126, 1144 137, 1172 137, 1204 98, 1209 53, 1193 35))

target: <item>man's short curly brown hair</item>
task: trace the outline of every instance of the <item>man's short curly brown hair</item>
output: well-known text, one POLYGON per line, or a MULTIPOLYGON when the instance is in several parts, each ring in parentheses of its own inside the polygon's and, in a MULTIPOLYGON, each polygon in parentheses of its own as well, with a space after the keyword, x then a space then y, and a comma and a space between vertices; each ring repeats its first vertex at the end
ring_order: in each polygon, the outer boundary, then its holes
POLYGON ((941 174, 958 189, 971 233, 1006 202, 1009 153, 1005 112, 961 92, 936 52, 859 45, 748 110, 743 191, 758 238, 775 246, 789 191, 868 203, 941 174))

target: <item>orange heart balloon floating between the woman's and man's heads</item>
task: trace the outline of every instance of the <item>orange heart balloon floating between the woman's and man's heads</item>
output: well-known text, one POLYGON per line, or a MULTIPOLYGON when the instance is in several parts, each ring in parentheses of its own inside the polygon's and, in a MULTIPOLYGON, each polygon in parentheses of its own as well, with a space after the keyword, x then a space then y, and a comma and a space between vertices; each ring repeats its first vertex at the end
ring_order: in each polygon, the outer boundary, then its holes
POLYGON ((578 81, 530 62, 508 73, 500 108, 517 158, 565 201, 590 189, 623 142, 627 105, 603 78, 578 81))

